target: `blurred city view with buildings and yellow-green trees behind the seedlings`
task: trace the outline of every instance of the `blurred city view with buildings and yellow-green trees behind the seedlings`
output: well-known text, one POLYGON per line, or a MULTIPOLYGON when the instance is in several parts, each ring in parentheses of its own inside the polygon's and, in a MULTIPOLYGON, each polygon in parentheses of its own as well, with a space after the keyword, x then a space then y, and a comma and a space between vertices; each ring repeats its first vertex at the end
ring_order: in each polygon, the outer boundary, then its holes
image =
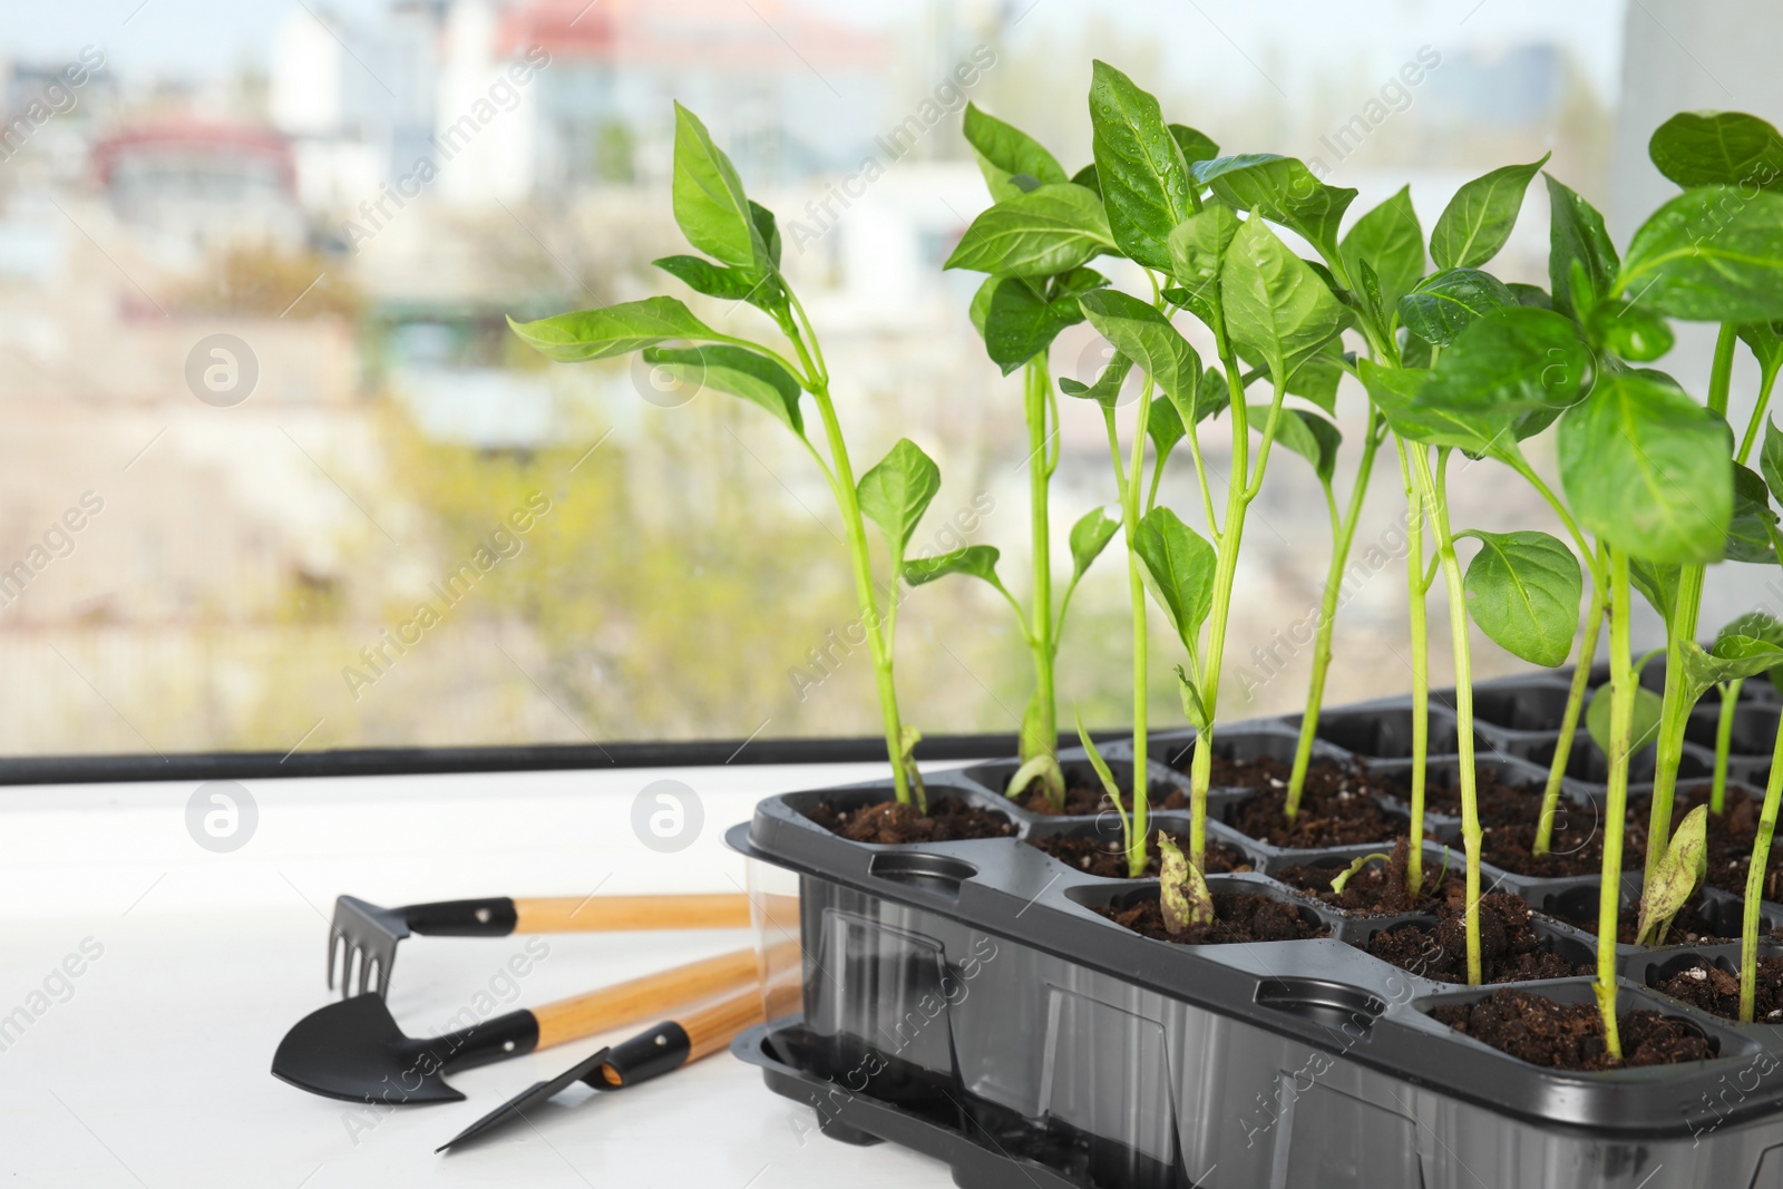
MULTIPOLYGON (((940 269, 988 201, 959 135, 966 98, 1075 169, 1089 160, 1089 62, 1104 57, 1225 152, 1298 155, 1359 187, 1353 212, 1410 182, 1426 230, 1464 180, 1551 150, 1549 169, 1606 210, 1617 242, 1669 193, 1644 152, 1665 116, 1783 118, 1769 61, 1783 14, 1760 0, 7 0, 4 12, 0 752, 12 754, 870 734, 868 661, 838 644, 856 619, 840 522, 781 426, 731 398, 665 390, 631 362, 547 367, 506 330, 508 316, 654 292, 763 328, 649 266, 685 250, 669 214, 670 100, 779 212, 856 462, 900 435, 922 444, 943 488, 916 540, 998 545, 1018 594, 1020 385, 966 319, 977 276, 940 269), (1407 62, 1425 64, 1416 86, 1400 82, 1407 62), (959 64, 979 68, 970 87, 952 82, 959 64)), ((1546 226, 1537 184, 1494 271, 1546 283, 1546 226)), ((1054 369, 1089 380, 1100 357, 1079 326, 1054 369)), ((1685 333, 1662 365, 1701 392, 1706 362, 1708 339, 1685 333)), ((1753 374, 1742 360, 1737 415, 1753 374)), ((1077 515, 1114 499, 1100 417, 1064 405, 1057 554, 1077 515)), ((1346 385, 1352 435, 1360 410, 1346 385)), ((1216 471, 1221 437, 1223 421, 1216 471)), ((1164 499, 1198 522, 1191 483, 1179 455, 1164 499)), ((1343 608, 1332 701, 1409 681, 1405 578, 1389 558, 1400 503, 1384 456, 1357 533, 1371 576, 1343 608)), ((1492 463, 1460 469, 1455 503, 1460 524, 1548 528, 1492 463)), ((1277 456, 1253 517, 1232 717, 1300 706, 1307 651, 1291 636, 1328 551, 1318 487, 1293 456, 1277 456)), ((1122 570, 1116 545, 1075 603, 1064 722, 1072 702, 1093 724, 1130 718, 1122 570)), ((1772 576, 1722 570, 1710 629, 1754 603, 1783 610, 1772 576)), ((1016 727, 1027 656, 993 594, 924 586, 900 624, 909 720, 1016 727)), ((1155 724, 1180 722, 1171 647, 1157 633, 1155 724)), ((1516 661, 1482 640, 1476 665, 1516 661)), ((1446 672, 1439 636, 1434 674, 1446 672)))

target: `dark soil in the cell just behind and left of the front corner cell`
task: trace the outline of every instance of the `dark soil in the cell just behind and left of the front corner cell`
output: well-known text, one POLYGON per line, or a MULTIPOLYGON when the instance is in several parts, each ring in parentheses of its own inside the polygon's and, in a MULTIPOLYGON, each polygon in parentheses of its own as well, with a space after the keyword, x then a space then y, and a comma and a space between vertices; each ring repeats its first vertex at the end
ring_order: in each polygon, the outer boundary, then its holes
MULTIPOLYGON (((1437 982, 1466 982, 1466 916, 1448 904, 1441 916, 1435 925, 1400 925, 1376 932, 1366 948, 1414 975, 1437 982)), ((1574 966, 1541 947, 1541 936, 1530 927, 1528 904, 1505 891, 1480 898, 1480 977, 1485 982, 1567 979, 1589 973, 1590 966, 1574 966)))

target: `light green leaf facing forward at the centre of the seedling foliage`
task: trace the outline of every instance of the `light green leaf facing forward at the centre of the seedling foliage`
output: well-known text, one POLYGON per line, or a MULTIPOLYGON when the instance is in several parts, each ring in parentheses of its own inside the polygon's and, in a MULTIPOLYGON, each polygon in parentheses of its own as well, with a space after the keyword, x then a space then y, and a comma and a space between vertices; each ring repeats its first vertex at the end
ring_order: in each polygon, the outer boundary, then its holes
POLYGON ((1348 321, 1344 307, 1262 219, 1246 219, 1220 269, 1227 332, 1291 380, 1348 321))

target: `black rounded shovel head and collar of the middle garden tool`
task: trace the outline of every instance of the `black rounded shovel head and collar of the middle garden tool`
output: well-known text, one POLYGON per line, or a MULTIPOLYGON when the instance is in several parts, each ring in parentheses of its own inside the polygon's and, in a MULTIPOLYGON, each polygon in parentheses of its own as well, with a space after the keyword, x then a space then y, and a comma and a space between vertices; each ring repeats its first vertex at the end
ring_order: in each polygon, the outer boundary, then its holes
POLYGON ((537 1045, 538 1021, 530 1011, 415 1039, 396 1027, 382 998, 357 995, 298 1020, 273 1054, 273 1077, 348 1102, 460 1102, 464 1095, 446 1084, 446 1071, 517 1057, 537 1045))

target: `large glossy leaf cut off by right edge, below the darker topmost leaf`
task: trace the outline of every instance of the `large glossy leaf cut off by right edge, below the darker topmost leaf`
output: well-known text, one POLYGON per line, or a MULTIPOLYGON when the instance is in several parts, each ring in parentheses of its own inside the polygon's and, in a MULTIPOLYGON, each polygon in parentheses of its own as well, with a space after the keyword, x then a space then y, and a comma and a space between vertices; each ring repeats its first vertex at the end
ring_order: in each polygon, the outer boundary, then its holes
POLYGON ((1783 317, 1783 194, 1733 185, 1678 194, 1635 232, 1615 285, 1694 323, 1783 317))

